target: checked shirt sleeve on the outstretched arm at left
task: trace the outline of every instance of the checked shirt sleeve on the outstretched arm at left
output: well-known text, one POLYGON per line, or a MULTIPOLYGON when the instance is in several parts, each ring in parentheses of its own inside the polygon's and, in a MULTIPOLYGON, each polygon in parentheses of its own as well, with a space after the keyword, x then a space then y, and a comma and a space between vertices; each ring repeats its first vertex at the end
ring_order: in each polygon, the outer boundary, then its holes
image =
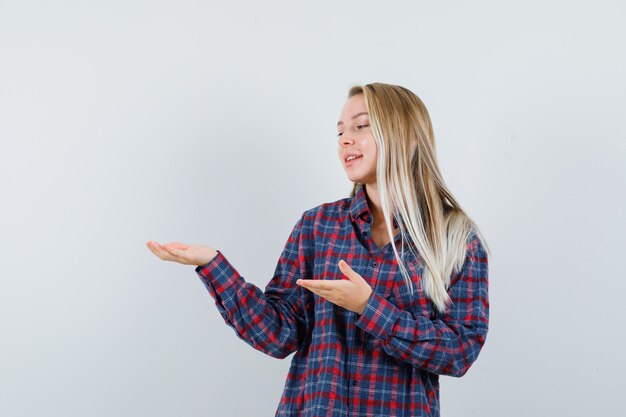
POLYGON ((265 291, 246 282, 217 250, 217 255, 196 272, 215 299, 218 311, 237 336, 269 356, 283 359, 297 350, 306 334, 302 288, 303 217, 294 226, 265 291))

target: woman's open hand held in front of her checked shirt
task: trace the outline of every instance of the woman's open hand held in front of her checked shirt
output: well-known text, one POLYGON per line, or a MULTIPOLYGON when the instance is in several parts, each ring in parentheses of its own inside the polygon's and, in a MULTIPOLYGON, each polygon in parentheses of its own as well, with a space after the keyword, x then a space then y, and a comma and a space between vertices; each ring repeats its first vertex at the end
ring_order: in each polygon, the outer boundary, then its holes
POLYGON ((362 314, 373 292, 372 287, 343 259, 339 261, 339 270, 348 279, 299 279, 296 283, 331 303, 362 314))

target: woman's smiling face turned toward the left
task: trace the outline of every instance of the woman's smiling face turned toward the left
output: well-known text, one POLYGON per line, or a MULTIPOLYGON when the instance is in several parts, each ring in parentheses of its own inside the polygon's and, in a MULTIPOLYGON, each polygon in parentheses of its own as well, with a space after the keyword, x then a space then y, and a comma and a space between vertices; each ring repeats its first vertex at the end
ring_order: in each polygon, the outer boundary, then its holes
POLYGON ((339 160, 348 179, 359 184, 376 184, 378 146, 370 128, 363 94, 346 101, 337 123, 337 134, 339 160), (350 155, 358 158, 346 161, 350 155))

